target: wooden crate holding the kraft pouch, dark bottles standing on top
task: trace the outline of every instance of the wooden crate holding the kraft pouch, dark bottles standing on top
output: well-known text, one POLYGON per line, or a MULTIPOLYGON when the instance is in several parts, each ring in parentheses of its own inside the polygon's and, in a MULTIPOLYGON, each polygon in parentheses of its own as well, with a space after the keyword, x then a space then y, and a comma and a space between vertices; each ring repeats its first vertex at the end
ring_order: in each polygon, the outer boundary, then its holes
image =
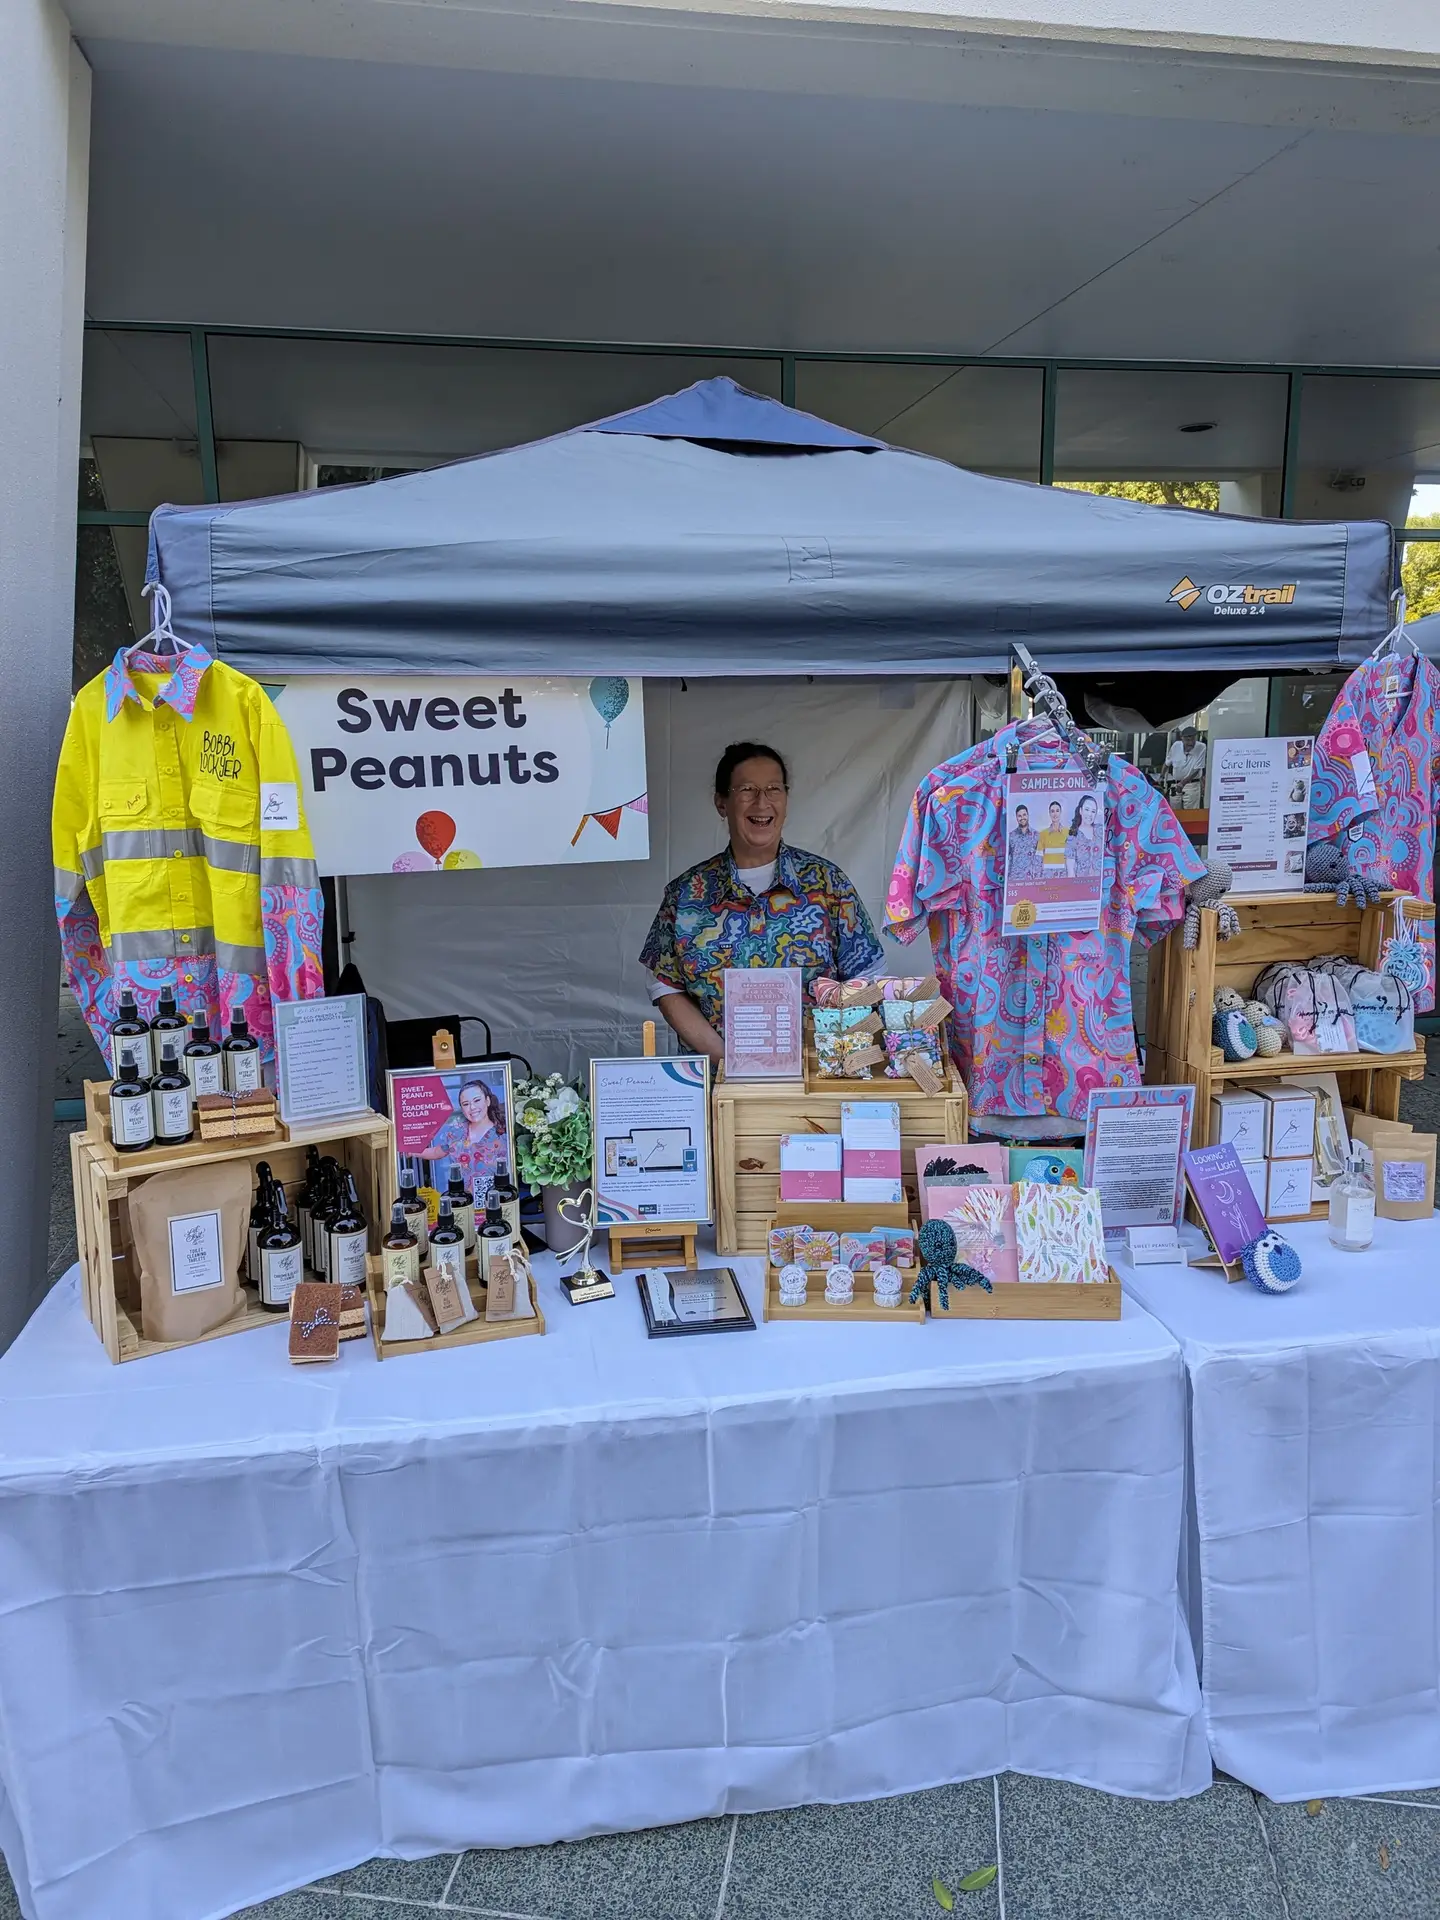
MULTIPOLYGON (((104 1096, 108 1081, 86 1083, 86 1106, 94 1112, 92 1092, 104 1096)), ((332 1154, 355 1175, 361 1206, 371 1221, 372 1244, 378 1246, 382 1223, 390 1213, 390 1121, 380 1114, 349 1121, 324 1137, 307 1140, 240 1142, 236 1146, 161 1146, 152 1156, 117 1154, 108 1137, 75 1133, 69 1142, 71 1175, 75 1183, 75 1235, 81 1252, 84 1311, 113 1361, 148 1359, 175 1346, 194 1346, 192 1340, 146 1340, 140 1334, 140 1267, 131 1240, 129 1196, 150 1175, 175 1167, 209 1167, 240 1160, 250 1167, 252 1183, 261 1160, 294 1194, 305 1171, 305 1146, 332 1154)), ((246 1286, 246 1311, 202 1334, 219 1340, 225 1334, 248 1332, 252 1327, 275 1327, 280 1313, 267 1313, 253 1288, 246 1286)))

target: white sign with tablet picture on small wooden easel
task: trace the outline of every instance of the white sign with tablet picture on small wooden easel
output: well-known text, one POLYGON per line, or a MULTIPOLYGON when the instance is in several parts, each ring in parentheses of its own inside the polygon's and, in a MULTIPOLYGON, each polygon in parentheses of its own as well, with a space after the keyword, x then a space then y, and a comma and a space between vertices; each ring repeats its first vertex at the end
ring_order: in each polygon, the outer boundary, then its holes
POLYGON ((710 1062, 705 1054, 589 1062, 595 1135, 595 1221, 611 1235, 611 1265, 624 1244, 684 1242, 710 1219, 710 1062))

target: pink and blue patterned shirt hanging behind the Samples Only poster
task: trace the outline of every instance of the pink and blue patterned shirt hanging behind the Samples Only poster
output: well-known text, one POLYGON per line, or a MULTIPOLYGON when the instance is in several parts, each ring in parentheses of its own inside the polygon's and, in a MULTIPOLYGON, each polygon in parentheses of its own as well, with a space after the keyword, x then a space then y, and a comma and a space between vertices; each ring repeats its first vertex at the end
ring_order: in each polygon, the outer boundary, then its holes
POLYGON ((885 918, 912 941, 929 924, 935 973, 954 1008, 950 1050, 985 1116, 1085 1119, 1092 1087, 1139 1085, 1131 945, 1150 947, 1185 914, 1206 862, 1150 781, 1119 756, 1106 783, 1104 891, 1094 933, 1006 939, 1004 780, 1012 743, 1027 772, 1075 762, 1020 726, 927 774, 910 804, 885 918))

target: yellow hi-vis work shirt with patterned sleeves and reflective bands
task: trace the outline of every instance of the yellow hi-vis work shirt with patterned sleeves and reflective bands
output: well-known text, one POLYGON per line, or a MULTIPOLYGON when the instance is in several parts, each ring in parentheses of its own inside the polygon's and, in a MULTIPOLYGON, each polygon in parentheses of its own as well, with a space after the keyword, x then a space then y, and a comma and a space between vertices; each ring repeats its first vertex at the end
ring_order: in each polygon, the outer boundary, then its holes
POLYGON ((65 977, 100 1050, 119 991, 161 987, 211 1031, 324 991, 323 899, 296 755, 269 695, 204 647, 125 651, 81 687, 56 770, 65 977))

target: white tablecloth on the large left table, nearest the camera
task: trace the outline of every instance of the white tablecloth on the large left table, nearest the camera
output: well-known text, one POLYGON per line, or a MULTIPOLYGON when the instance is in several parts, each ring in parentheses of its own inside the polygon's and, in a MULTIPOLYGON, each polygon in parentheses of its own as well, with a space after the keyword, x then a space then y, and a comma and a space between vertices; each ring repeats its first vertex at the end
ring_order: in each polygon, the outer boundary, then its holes
POLYGON ((296 1369, 282 1325, 111 1367, 60 1284, 0 1361, 31 1920, 1000 1768, 1208 1784, 1185 1373, 1135 1302, 647 1340, 618 1286, 296 1369))

